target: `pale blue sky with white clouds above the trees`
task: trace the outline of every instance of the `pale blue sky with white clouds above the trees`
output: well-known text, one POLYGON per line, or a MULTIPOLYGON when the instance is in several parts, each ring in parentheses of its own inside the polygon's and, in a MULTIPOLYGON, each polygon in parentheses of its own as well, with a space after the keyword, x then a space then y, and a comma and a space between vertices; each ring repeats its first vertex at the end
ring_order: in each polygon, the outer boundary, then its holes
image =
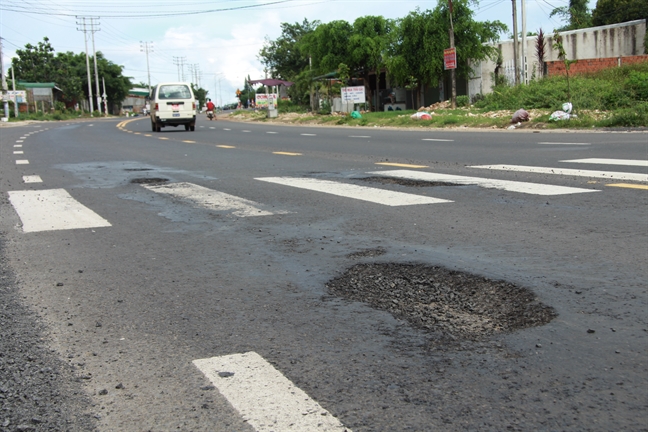
MULTIPOLYGON (((56 51, 85 52, 79 18, 98 17, 94 21, 99 30, 94 33, 97 51, 124 66, 124 73, 134 82, 148 81, 142 50, 142 42, 148 42, 152 47, 148 58, 151 84, 176 81, 177 64, 182 62, 187 81, 195 82, 190 76, 195 76, 192 71, 199 71, 199 83, 209 90, 209 96, 227 103, 235 100, 235 90, 245 77, 263 78, 259 50, 266 38, 279 36, 283 22, 306 18, 352 23, 366 15, 400 18, 417 7, 433 9, 437 1, 2 0, 0 37, 6 69, 16 49, 27 43, 35 45, 43 37, 50 39, 56 51)), ((549 14, 554 7, 567 4, 568 0, 526 0, 527 30, 542 28, 549 33, 561 26, 563 23, 549 18, 549 14)), ((590 8, 595 4, 590 1, 590 8)), ((482 0, 474 9, 475 19, 500 20, 512 28, 511 7, 511 0, 482 0)))

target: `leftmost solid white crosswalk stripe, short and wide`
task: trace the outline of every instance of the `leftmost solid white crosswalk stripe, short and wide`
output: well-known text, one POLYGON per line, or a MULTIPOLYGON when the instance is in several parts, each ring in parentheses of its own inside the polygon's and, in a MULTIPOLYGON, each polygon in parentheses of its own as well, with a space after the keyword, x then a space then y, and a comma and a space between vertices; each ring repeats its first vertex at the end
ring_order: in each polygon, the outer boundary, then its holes
POLYGON ((9 201, 20 216, 24 232, 111 226, 65 189, 12 191, 9 201))

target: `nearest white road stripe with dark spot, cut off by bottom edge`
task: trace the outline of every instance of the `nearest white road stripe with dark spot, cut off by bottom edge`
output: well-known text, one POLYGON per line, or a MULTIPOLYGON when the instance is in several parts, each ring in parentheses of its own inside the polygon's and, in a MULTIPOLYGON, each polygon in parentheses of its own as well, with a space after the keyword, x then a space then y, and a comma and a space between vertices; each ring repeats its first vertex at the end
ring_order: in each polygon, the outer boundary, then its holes
POLYGON ((255 352, 193 364, 258 432, 351 432, 255 352))

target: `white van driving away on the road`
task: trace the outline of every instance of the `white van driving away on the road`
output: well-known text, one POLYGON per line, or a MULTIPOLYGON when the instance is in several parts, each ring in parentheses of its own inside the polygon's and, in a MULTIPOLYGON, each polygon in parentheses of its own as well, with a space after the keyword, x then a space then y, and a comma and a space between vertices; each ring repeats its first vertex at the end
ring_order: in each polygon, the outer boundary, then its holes
POLYGON ((189 83, 160 83, 151 87, 149 99, 153 132, 160 132, 164 126, 196 129, 196 99, 189 83))

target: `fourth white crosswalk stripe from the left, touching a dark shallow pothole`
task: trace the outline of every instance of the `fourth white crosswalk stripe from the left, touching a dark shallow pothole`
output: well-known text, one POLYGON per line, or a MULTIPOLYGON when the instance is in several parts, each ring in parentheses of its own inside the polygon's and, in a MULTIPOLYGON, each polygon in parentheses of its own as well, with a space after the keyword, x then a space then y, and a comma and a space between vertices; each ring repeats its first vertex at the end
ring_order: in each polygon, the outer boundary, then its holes
POLYGON ((567 186, 554 186, 548 184, 528 183, 510 180, 486 179, 480 177, 457 176, 450 174, 437 174, 421 171, 395 170, 374 171, 368 174, 377 174, 389 177, 405 178, 410 180, 423 180, 430 182, 446 182, 462 185, 477 185, 487 189, 501 189, 510 192, 519 192, 533 195, 567 195, 572 193, 600 192, 595 189, 582 189, 567 186))

